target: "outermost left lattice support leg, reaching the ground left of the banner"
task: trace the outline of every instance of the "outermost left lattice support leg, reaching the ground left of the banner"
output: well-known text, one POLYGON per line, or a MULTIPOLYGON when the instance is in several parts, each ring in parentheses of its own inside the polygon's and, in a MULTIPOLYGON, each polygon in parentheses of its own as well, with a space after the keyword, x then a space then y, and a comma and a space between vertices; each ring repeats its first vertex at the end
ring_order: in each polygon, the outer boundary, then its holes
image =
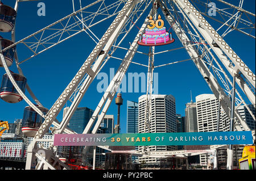
MULTIPOLYGON (((93 62, 96 60, 97 57, 105 56, 104 54, 99 55, 101 50, 105 47, 105 45, 108 43, 108 41, 111 38, 113 39, 113 33, 115 32, 115 30, 117 30, 117 27, 121 24, 121 22, 123 22, 127 18, 126 15, 129 15, 130 12, 134 9, 137 2, 138 0, 137 1, 129 0, 125 4, 125 6, 123 6, 122 10, 119 11, 119 14, 114 19, 113 23, 110 24, 110 27, 104 33, 101 40, 93 49, 92 53, 90 53, 89 57, 81 66, 80 70, 77 72, 75 77, 69 83, 67 88, 63 91, 60 97, 53 104, 52 108, 48 111, 46 115, 46 119, 44 120, 43 124, 40 126, 38 132, 35 135, 35 139, 42 138, 44 136, 46 131, 51 126, 53 120, 56 119, 56 116, 59 114, 60 110, 63 108, 63 106, 67 102, 68 98, 71 96, 72 92, 75 90, 78 83, 81 81, 82 77, 84 77, 85 74, 88 74, 88 76, 93 79, 93 77, 96 74, 95 70, 91 69, 93 62)), ((31 143, 31 146, 32 148, 35 146, 35 141, 31 143)), ((28 150, 28 153, 27 153, 27 158, 29 159, 27 159, 26 169, 31 167, 32 155, 34 154, 32 148, 28 150)))

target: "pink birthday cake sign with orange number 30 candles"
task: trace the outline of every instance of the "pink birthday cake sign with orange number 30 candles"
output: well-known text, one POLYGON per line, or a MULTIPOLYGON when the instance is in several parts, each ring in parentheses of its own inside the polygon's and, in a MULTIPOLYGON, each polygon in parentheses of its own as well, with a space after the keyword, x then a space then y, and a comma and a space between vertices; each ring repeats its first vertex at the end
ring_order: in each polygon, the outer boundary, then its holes
POLYGON ((156 21, 153 20, 150 15, 148 22, 150 24, 147 25, 145 33, 143 33, 142 36, 139 36, 139 45, 158 46, 174 42, 174 39, 172 39, 172 33, 168 33, 166 31, 166 27, 164 27, 164 22, 160 15, 158 15, 158 19, 156 21))

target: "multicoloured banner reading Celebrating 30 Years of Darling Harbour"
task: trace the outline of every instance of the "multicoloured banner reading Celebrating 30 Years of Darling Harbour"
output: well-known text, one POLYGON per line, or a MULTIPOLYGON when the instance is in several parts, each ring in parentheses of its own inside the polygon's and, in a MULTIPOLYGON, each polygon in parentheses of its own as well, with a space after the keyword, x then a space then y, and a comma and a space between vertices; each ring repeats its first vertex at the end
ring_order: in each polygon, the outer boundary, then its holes
POLYGON ((55 134, 55 146, 150 146, 253 144, 250 131, 196 133, 55 134))

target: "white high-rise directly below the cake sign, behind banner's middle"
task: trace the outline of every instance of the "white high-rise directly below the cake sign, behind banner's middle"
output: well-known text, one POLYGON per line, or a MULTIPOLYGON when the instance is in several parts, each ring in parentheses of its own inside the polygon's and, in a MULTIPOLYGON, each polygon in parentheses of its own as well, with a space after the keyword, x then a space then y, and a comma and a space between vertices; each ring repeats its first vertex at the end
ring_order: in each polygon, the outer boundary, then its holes
MULTIPOLYGON (((146 95, 139 97, 139 133, 144 133, 146 95)), ((148 129, 146 129, 148 132, 148 129)), ((150 133, 177 132, 175 98, 172 95, 152 95, 150 133)), ((142 151, 143 146, 139 146, 142 151)), ((177 146, 148 146, 148 151, 176 150, 177 146)), ((140 157, 139 163, 160 163, 159 158, 140 157)))

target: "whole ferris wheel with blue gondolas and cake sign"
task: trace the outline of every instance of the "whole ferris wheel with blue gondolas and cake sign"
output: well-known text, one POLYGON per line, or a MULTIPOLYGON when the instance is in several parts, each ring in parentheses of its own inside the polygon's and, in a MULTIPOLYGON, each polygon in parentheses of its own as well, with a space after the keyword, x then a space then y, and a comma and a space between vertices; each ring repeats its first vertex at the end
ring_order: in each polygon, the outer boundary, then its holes
MULTIPOLYGON (((221 0, 207 2, 98 0, 89 4, 86 4, 87 1, 72 1, 71 14, 16 41, 15 26, 20 26, 16 21, 19 3, 22 1, 17 0, 14 8, 0 5, 0 31, 11 33, 11 40, 3 37, 0 39, 0 66, 6 71, 3 75, 0 95, 7 103, 18 103, 23 100, 28 104, 24 108, 25 119, 23 119, 22 131, 26 136, 34 137, 34 140, 28 146, 26 169, 31 169, 34 163, 36 169, 68 169, 67 165, 56 157, 55 146, 46 149, 40 144, 37 145, 37 142, 42 141, 48 130, 53 134, 76 133, 67 127, 69 120, 81 100, 86 99, 85 92, 97 74, 111 59, 119 60, 121 63, 118 64, 118 70, 86 125, 84 134, 89 133, 91 129, 92 133, 97 132, 131 64, 146 67, 150 75, 147 79, 146 110, 148 111, 146 111, 144 127, 144 132, 148 132, 154 70, 185 61, 193 61, 221 107, 230 117, 230 126, 226 130, 251 131, 234 107, 244 105, 255 121, 255 115, 246 103, 248 99, 255 108, 255 74, 234 52, 232 45, 225 41, 225 36, 234 32, 255 40, 255 14, 243 9, 243 0, 240 0, 238 5, 221 0), (79 5, 79 10, 75 10, 76 3, 79 5), (108 20, 113 20, 109 27, 101 27, 101 23, 108 20), (166 22, 165 26, 163 22, 166 22), (218 26, 213 27, 209 22, 217 22, 218 26), (93 31, 96 26, 105 32, 101 38, 93 31), (86 55, 87 58, 81 68, 48 110, 28 86, 30 80, 26 78, 26 72, 23 73, 22 64, 43 52, 47 53, 49 49, 54 49, 64 41, 72 40, 74 36, 84 36, 84 33, 96 45, 92 45, 92 52, 86 55), (134 40, 124 45, 128 37, 133 37, 134 40), (168 47, 168 44, 175 44, 177 41, 181 43, 181 47, 172 49, 168 47), (166 50, 156 52, 156 47, 162 45, 166 50), (19 47, 30 52, 23 60, 18 58, 19 47), (187 52, 189 58, 163 65, 154 64, 156 54, 179 49, 187 52), (125 50, 126 53, 120 57, 120 54, 116 53, 118 50, 125 50), (133 61, 137 54, 146 57, 148 65, 133 61), (10 70, 14 65, 18 73, 10 70), (26 94, 25 90, 27 90, 26 94), (69 104, 69 109, 65 112, 63 120, 59 121, 56 119, 57 115, 66 104, 69 104), (40 162, 36 162, 36 159, 40 162)), ((255 140, 255 131, 252 133, 255 140)), ((232 147, 229 150, 232 151, 232 147)), ((228 165, 232 164, 228 163, 228 165)))

